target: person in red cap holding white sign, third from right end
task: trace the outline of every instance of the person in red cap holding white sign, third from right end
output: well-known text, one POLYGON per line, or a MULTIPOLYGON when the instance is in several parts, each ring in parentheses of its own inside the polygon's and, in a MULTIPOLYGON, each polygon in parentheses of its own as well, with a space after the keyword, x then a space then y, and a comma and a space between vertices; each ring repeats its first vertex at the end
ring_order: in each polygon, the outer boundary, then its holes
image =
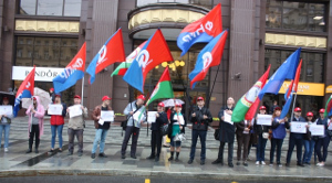
MULTIPOLYGON (((292 121, 297 122, 307 122, 303 117, 301 117, 301 108, 295 107, 294 109, 294 117, 292 121)), ((291 126, 291 121, 289 122, 289 126, 291 126)), ((288 127, 289 129, 290 127, 288 127)), ((295 133, 290 132, 289 136, 289 146, 287 151, 287 159, 286 159, 286 166, 290 166, 290 161, 292 158, 292 152, 294 150, 294 147, 297 146, 297 165, 298 166, 304 166, 302 162, 302 148, 303 148, 303 140, 304 140, 304 133, 295 133)))

